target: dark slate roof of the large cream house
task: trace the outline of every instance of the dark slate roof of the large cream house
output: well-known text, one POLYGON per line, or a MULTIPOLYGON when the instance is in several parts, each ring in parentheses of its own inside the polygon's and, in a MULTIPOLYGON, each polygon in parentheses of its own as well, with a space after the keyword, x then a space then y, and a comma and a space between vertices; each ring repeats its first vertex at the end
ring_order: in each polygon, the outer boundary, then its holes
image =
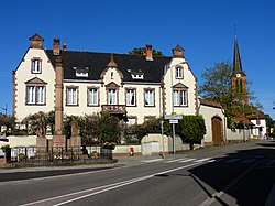
MULTIPOLYGON (((46 50, 52 64, 55 66, 56 55, 52 50, 46 50)), ((76 68, 89 68, 87 80, 99 80, 100 74, 110 66, 110 63, 116 62, 116 67, 123 74, 124 82, 144 82, 144 83, 161 83, 164 67, 168 64, 172 57, 154 56, 154 61, 146 61, 145 56, 132 54, 111 54, 99 52, 77 52, 77 51, 61 51, 64 67, 64 79, 84 79, 76 76, 76 68), (111 62, 110 62, 111 57, 111 62), (112 62, 114 61, 114 62, 112 62), (142 79, 134 79, 131 73, 142 72, 142 79)))

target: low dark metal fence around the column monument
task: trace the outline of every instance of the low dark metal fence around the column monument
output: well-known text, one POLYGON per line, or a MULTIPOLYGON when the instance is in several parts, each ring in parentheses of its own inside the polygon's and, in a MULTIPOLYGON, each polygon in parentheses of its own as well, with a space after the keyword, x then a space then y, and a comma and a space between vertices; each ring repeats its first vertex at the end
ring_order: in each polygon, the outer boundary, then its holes
POLYGON ((7 162, 41 163, 112 160, 112 150, 102 145, 86 145, 72 148, 11 148, 6 154, 7 162))

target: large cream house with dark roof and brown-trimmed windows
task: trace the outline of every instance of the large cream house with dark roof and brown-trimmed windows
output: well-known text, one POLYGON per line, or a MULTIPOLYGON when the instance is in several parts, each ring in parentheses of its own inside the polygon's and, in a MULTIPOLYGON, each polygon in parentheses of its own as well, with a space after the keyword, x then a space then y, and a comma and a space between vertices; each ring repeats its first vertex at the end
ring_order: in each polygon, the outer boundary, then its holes
POLYGON ((55 37, 45 50, 38 34, 13 76, 13 116, 22 121, 38 111, 55 107, 56 58, 63 59, 63 110, 84 116, 109 111, 129 123, 142 123, 166 113, 198 112, 198 84, 177 45, 172 56, 153 56, 146 45, 144 55, 68 51, 55 37))

